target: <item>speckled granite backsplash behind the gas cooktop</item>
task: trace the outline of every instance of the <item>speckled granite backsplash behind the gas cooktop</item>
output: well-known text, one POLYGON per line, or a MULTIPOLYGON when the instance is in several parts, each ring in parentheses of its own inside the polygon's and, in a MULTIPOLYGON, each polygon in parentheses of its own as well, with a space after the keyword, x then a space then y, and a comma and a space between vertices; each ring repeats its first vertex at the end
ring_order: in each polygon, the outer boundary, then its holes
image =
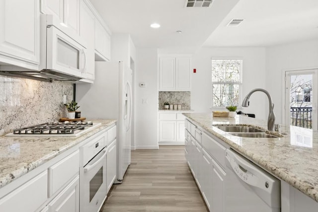
POLYGON ((0 76, 0 135, 66 117, 63 95, 72 101, 72 83, 0 76))

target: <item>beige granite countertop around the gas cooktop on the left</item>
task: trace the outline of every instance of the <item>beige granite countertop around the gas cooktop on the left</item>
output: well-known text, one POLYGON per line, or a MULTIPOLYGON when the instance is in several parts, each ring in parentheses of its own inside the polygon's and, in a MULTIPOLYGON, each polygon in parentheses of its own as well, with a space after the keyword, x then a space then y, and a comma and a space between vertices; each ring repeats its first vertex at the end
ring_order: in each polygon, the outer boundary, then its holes
POLYGON ((90 119, 90 121, 101 125, 79 137, 1 136, 0 188, 116 122, 114 119, 90 119))

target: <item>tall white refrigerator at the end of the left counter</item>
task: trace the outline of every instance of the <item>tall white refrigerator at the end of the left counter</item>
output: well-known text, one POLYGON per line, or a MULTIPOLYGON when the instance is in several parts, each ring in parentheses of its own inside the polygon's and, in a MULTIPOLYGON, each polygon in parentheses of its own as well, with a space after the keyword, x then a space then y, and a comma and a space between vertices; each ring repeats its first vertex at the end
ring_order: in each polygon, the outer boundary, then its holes
POLYGON ((131 158, 132 70, 123 62, 95 62, 93 84, 76 85, 76 101, 87 119, 117 119, 117 180, 131 158))

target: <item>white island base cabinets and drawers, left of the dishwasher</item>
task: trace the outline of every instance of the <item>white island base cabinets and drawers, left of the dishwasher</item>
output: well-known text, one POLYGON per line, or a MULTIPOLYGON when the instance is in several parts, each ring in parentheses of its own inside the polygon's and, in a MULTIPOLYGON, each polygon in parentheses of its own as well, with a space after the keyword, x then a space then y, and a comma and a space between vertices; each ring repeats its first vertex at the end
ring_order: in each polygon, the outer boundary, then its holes
POLYGON ((193 177, 209 210, 224 212, 226 172, 223 161, 226 147, 188 120, 185 126, 186 159, 193 177))

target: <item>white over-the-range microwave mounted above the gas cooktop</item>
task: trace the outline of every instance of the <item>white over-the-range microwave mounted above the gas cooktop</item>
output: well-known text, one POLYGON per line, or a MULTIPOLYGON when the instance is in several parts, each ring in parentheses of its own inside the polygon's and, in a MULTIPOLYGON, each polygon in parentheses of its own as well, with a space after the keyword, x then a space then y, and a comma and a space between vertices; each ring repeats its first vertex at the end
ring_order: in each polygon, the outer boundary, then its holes
POLYGON ((81 79, 86 71, 86 49, 79 35, 68 31, 53 15, 41 15, 40 70, 81 79))

